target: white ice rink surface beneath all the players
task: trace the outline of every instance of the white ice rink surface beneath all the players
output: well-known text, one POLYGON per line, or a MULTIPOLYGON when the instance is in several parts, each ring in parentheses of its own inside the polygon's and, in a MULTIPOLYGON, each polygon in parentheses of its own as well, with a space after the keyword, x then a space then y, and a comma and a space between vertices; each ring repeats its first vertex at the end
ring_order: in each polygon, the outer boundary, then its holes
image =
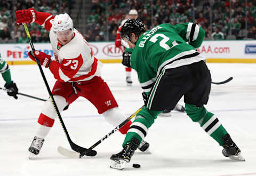
MULTIPOLYGON (((29 160, 28 147, 34 138, 44 102, 21 95, 14 100, 0 90, 0 175, 256 175, 256 65, 207 65, 213 82, 234 77, 229 83, 212 85, 206 109, 218 116, 241 149, 245 162, 224 157, 217 142, 185 113, 178 112, 173 112, 171 117, 156 119, 146 137, 151 154, 136 151, 123 171, 110 169, 109 157, 121 151, 124 135, 115 132, 94 148, 98 152, 94 157, 70 159, 57 151, 58 146, 70 149, 58 119, 46 137, 41 153, 29 160), (140 164, 140 169, 133 168, 132 163, 140 164)), ((48 93, 37 65, 10 67, 21 93, 47 99, 48 93)), ((52 87, 55 82, 52 74, 47 69, 44 73, 52 87)), ((134 70, 131 87, 126 86, 121 64, 105 64, 102 77, 126 115, 142 106, 141 88, 134 70)), ((3 87, 3 79, 0 84, 3 87)), ((184 105, 182 99, 180 104, 184 105)), ((71 139, 86 148, 114 128, 84 98, 77 99, 61 115, 71 139)))

